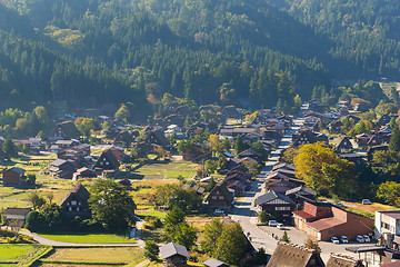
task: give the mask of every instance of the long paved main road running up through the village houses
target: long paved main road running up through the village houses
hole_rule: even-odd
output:
[[[277,239],[264,229],[257,226],[258,218],[256,215],[256,207],[253,206],[254,199],[264,192],[263,184],[266,177],[270,174],[272,166],[279,161],[279,157],[282,150],[287,149],[291,141],[292,135],[303,125],[303,112],[308,106],[303,105],[299,117],[293,120],[292,126],[287,130],[282,137],[278,148],[271,154],[268,162],[262,168],[260,175],[257,176],[257,180],[252,184],[249,191],[246,192],[244,198],[237,202],[237,207],[233,209],[231,218],[234,221],[239,221],[243,231],[249,235],[251,244],[256,249],[263,247],[268,254],[272,254],[277,247]]]

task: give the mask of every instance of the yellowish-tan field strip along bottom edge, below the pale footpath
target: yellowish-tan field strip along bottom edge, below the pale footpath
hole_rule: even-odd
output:
[[[132,264],[137,265],[144,260],[143,249],[138,247],[113,247],[113,248],[57,248],[56,251],[40,259],[43,264],[71,263],[77,264]],[[44,265],[48,266],[48,265]],[[81,266],[81,265],[79,265]],[[93,265],[91,265],[93,266]]]

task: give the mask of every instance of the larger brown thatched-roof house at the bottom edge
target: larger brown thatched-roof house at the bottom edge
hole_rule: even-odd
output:
[[[324,264],[314,249],[278,243],[267,267],[324,267]]]

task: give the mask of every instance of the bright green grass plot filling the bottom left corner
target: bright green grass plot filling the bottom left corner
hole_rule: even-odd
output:
[[[47,246],[40,245],[0,245],[0,263],[24,263],[43,253],[47,248]]]

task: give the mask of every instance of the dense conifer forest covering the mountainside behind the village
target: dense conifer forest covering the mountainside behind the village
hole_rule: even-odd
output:
[[[2,4],[1,4],[2,3]],[[394,0],[2,0],[3,107],[131,102],[166,92],[247,108],[399,75]]]

